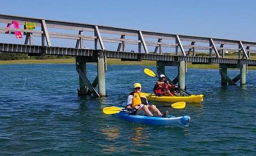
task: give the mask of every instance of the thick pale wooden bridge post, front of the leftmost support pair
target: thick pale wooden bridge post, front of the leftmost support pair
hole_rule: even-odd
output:
[[[105,62],[104,56],[100,55],[97,63],[98,69],[98,89],[100,96],[106,96],[106,84],[105,84]]]

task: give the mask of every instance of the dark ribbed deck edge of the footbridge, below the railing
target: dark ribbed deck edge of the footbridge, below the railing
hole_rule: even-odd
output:
[[[103,55],[107,58],[120,58],[128,60],[151,60],[151,61],[187,61],[192,63],[202,64],[248,64],[256,66],[256,60],[235,59],[235,58],[210,58],[210,57],[197,57],[197,56],[173,56],[163,54],[146,54],[134,52],[118,52],[108,50],[95,50],[95,49],[79,49],[67,47],[49,47],[37,45],[23,45],[0,43],[1,52],[16,52],[16,53],[30,53],[30,54],[48,54],[48,55],[68,55],[68,56],[98,56]]]

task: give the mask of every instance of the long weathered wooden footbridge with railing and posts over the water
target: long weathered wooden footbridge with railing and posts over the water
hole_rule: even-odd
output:
[[[17,28],[16,22],[18,25],[24,25],[24,28]],[[13,23],[15,28],[11,28]],[[23,35],[21,39],[13,38],[12,43],[0,43],[0,52],[27,53],[29,56],[47,54],[76,57],[80,95],[106,95],[107,58],[120,58],[122,61],[157,61],[158,74],[165,74],[165,66],[177,66],[178,74],[173,82],[178,83],[182,89],[185,88],[186,62],[219,64],[221,84],[234,84],[239,80],[240,84],[245,84],[247,66],[256,66],[256,60],[250,59],[250,54],[256,53],[256,42],[250,41],[175,35],[6,14],[0,14],[0,24],[2,40],[5,40],[5,35],[15,35],[16,32]],[[28,29],[28,24],[35,28]],[[38,38],[40,42],[36,44],[35,39]],[[54,46],[53,38],[66,39],[68,43],[73,42],[74,46]],[[23,43],[19,43],[20,41]],[[84,48],[85,41],[94,48]],[[112,49],[106,48],[105,44],[111,44]],[[128,45],[136,45],[137,52],[126,52]],[[114,46],[116,50],[113,50]],[[153,48],[152,52],[149,48]],[[163,48],[173,49],[175,54],[163,54]],[[195,49],[207,50],[209,56],[198,57],[195,55]],[[238,52],[237,58],[225,58],[225,51]],[[97,63],[98,75],[93,83],[86,77],[88,62]],[[231,79],[227,75],[228,68],[239,68],[241,72]],[[97,85],[98,92],[95,90]]]

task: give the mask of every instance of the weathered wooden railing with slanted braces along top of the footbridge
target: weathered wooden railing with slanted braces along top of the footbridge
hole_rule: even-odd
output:
[[[195,49],[209,50],[209,57],[212,58],[212,50],[214,51],[216,58],[224,58],[225,50],[237,51],[238,58],[249,59],[250,53],[255,53],[256,42],[241,41],[241,40],[229,40],[221,38],[206,38],[197,36],[175,35],[160,32],[149,32],[135,29],[123,29],[110,26],[99,26],[86,23],[73,23],[58,20],[46,20],[33,17],[20,17],[14,15],[0,14],[0,23],[8,24],[13,20],[17,20],[20,25],[24,25],[25,22],[34,22],[37,27],[41,27],[41,30],[27,30],[27,29],[15,29],[0,27],[0,33],[6,34],[6,30],[9,30],[9,34],[15,34],[15,31],[20,31],[23,35],[26,35],[24,44],[33,45],[33,38],[41,37],[41,45],[45,46],[45,40],[47,46],[52,45],[51,38],[64,38],[76,40],[75,48],[84,48],[84,40],[94,41],[94,49],[98,49],[98,43],[101,49],[106,49],[104,43],[118,43],[116,51],[125,52],[125,46],[127,44],[138,45],[138,53],[142,52],[142,46],[145,53],[149,53],[148,47],[154,47],[154,53],[159,52],[162,54],[163,47],[175,48],[175,55],[179,55],[179,49],[183,56],[192,55],[195,56]],[[56,29],[66,29],[70,32],[60,32]],[[71,33],[72,31],[78,31],[77,34]],[[94,32],[94,35],[83,35],[84,32]],[[104,34],[104,36],[102,36]],[[113,38],[111,35],[120,35],[120,38]],[[138,39],[134,39],[134,36]],[[155,40],[155,41],[152,41]],[[164,41],[163,41],[164,40]],[[189,42],[191,44],[184,44]],[[208,43],[209,46],[206,46]],[[237,46],[237,48],[231,48],[231,46]],[[122,47],[122,49],[121,49]],[[252,49],[254,48],[254,49]],[[185,51],[187,49],[187,52]],[[109,49],[106,49],[109,50]],[[241,56],[242,54],[242,56]]]

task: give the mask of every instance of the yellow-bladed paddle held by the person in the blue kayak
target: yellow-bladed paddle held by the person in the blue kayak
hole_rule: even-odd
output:
[[[186,107],[186,102],[175,102],[172,105],[166,105],[166,106],[159,106],[159,107],[172,107],[172,108],[176,108],[176,109],[182,109]],[[159,108],[157,107],[157,108]],[[135,108],[131,108],[131,109],[122,109],[119,107],[115,107],[115,106],[111,106],[111,107],[104,107],[103,108],[103,113],[105,114],[116,114],[119,113],[121,110],[135,110]]]

